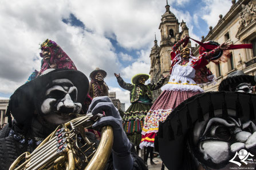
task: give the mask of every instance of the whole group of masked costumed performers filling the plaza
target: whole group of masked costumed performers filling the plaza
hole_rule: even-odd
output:
[[[74,148],[87,139],[97,148],[102,128],[111,126],[113,146],[105,169],[147,169],[149,154],[151,165],[155,165],[153,149],[163,160],[162,169],[255,168],[254,76],[234,71],[220,83],[219,92],[203,92],[199,85],[215,80],[206,65],[219,60],[230,45],[202,43],[200,55],[193,56],[186,47],[189,39],[186,36],[172,47],[170,75],[156,83],[145,84],[147,74],[137,74],[127,83],[115,73],[119,86],[130,91],[131,106],[123,118],[107,97],[107,72],[96,68],[89,82],[62,48],[47,39],[41,44],[41,70],[35,70],[10,97],[9,122],[0,131],[0,169],[9,169],[23,152],[38,152],[38,145],[60,124],[85,115],[93,123],[80,132],[82,136],[70,123],[76,131]],[[152,103],[152,91],[159,88],[163,92]],[[59,140],[59,152],[71,148],[71,139]],[[68,153],[78,155],[76,169],[86,167],[83,156],[90,153],[79,155],[74,148]],[[143,159],[138,156],[140,149],[144,149]],[[235,158],[242,149],[249,161]]]

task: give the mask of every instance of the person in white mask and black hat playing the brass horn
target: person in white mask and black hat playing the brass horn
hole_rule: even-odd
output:
[[[37,145],[49,136],[58,125],[82,116],[81,103],[84,102],[88,89],[89,81],[82,72],[63,69],[53,70],[46,74],[43,72],[41,76],[19,87],[11,95],[7,108],[7,116],[10,118],[12,115],[14,122],[9,121],[9,126],[5,126],[0,131],[0,169],[9,169],[11,163],[21,153],[34,151]],[[121,117],[111,100],[107,97],[94,98],[88,108],[88,114],[94,117],[102,111],[105,112],[105,116],[101,115],[100,117],[103,116],[103,118],[98,119],[92,127],[96,129],[101,129],[106,125],[113,127],[112,156],[109,158],[106,169],[145,169],[143,160],[131,151],[132,145],[123,131]],[[80,134],[79,131],[76,131],[76,127],[74,127],[74,132]],[[84,132],[81,131],[81,133]],[[95,143],[95,147],[99,144],[95,136],[89,132],[85,133],[85,137],[78,135],[76,138],[72,138],[69,136],[70,139],[63,137],[65,132],[57,131],[56,134],[60,139],[57,140],[60,145],[57,147],[58,149],[56,145],[46,149],[46,152],[53,151],[46,158],[57,153],[61,154],[66,147],[72,146],[72,143],[69,144],[70,140],[76,140],[75,143],[79,146],[86,141],[85,137],[87,137]],[[73,151],[69,154],[76,154],[81,159],[82,155],[77,154],[80,150],[76,150],[76,147],[69,151]],[[40,156],[40,154],[41,152],[37,152],[34,156]],[[85,152],[85,155],[88,156],[88,154],[90,153]],[[46,158],[43,160],[45,161]],[[76,160],[79,162],[76,169],[83,168],[86,160]],[[31,163],[29,166],[40,167],[44,161]],[[59,162],[61,162],[61,157],[56,160],[56,163]],[[57,165],[59,164],[55,166]],[[60,164],[60,166],[62,165]],[[34,169],[39,167],[34,167]]]

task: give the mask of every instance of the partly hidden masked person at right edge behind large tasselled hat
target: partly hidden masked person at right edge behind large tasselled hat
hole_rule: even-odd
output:
[[[254,76],[246,75],[242,70],[231,72],[219,84],[219,91],[237,91],[253,93]]]

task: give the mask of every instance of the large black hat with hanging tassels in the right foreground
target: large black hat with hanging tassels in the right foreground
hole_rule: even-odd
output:
[[[191,132],[195,122],[203,123],[219,116],[255,122],[253,103],[256,103],[255,94],[241,92],[205,92],[182,102],[159,124],[159,152],[164,165],[176,170],[187,164],[188,156],[184,151],[187,137],[191,135],[188,132]],[[230,115],[228,109],[235,110],[235,114]],[[216,115],[214,110],[222,110],[221,115]]]

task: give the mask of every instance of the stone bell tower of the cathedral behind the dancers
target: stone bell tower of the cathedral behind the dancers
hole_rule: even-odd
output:
[[[179,27],[181,27],[181,32],[179,32]],[[178,19],[170,11],[168,1],[166,12],[162,15],[159,30],[161,33],[160,46],[158,46],[155,38],[155,44],[151,48],[151,54],[149,55],[149,58],[151,59],[151,68],[149,71],[151,83],[156,83],[163,74],[169,74],[171,67],[170,52],[172,51],[172,46],[186,35],[189,35],[186,23],[183,21],[179,23]],[[189,42],[187,46],[191,47],[191,43]],[[160,94],[160,89],[153,91],[153,99],[155,100]]]

